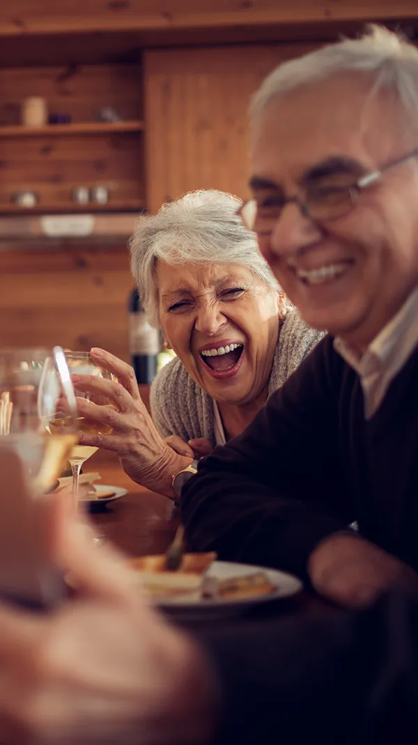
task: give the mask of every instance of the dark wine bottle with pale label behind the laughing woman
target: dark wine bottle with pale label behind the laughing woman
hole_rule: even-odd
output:
[[[136,288],[128,301],[130,360],[139,383],[152,383],[156,376],[161,343],[158,329],[149,323]]]

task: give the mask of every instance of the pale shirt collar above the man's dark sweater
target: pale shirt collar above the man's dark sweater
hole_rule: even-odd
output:
[[[390,383],[414,352],[417,343],[418,287],[361,358],[343,339],[335,338],[335,350],[360,378],[366,419],[371,419],[379,409]]]

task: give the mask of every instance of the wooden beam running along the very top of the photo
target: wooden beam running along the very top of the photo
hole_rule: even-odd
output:
[[[0,9],[0,33],[147,31],[203,26],[417,17],[416,0],[14,0]]]

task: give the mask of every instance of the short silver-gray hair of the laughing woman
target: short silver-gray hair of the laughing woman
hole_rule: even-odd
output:
[[[241,264],[270,288],[279,285],[259,252],[256,235],[237,216],[241,200],[224,191],[191,191],[139,218],[130,260],[139,297],[158,325],[157,261],[166,264]]]

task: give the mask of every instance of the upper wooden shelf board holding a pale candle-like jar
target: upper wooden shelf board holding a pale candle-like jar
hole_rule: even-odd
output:
[[[57,135],[97,135],[124,132],[142,132],[144,122],[133,121],[80,121],[74,124],[46,124],[45,127],[0,127],[0,137],[45,137]]]

